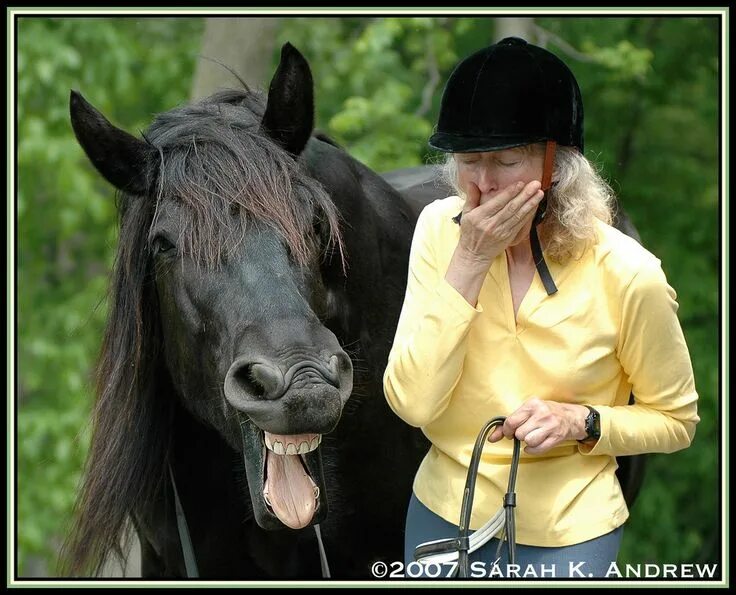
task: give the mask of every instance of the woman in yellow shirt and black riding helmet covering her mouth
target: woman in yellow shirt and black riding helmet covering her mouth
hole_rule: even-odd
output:
[[[675,292],[611,227],[612,193],[583,157],[577,82],[550,52],[507,38],[463,60],[430,145],[450,154],[458,196],[419,217],[384,375],[391,408],[432,443],[406,563],[457,536],[473,444],[505,416],[470,528],[502,503],[515,436],[518,569],[501,575],[605,576],[628,518],[615,457],[685,448],[699,421]],[[497,544],[471,556],[474,576],[498,571]]]

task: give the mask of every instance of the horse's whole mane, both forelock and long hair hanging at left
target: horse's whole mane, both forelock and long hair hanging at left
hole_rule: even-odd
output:
[[[108,552],[122,557],[129,516],[165,497],[174,402],[160,355],[150,230],[162,200],[184,208],[182,254],[217,265],[251,222],[265,223],[306,264],[324,230],[342,255],[338,214],[324,189],[260,128],[262,96],[225,91],[159,115],[143,133],[158,150],[150,196],[121,194],[111,301],[96,369],[92,443],[75,518],[62,548],[62,576],[98,574]]]

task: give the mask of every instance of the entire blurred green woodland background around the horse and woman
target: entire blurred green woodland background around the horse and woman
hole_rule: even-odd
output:
[[[207,21],[17,20],[19,577],[53,576],[69,521],[117,235],[113,190],[70,128],[69,90],[137,134],[193,94]],[[312,67],[317,127],[377,171],[437,158],[426,139],[444,81],[471,51],[522,31],[570,65],[586,155],[678,293],[701,398],[691,448],[650,457],[619,562],[720,561],[719,18],[283,16],[269,27],[251,48],[259,86],[290,41]]]

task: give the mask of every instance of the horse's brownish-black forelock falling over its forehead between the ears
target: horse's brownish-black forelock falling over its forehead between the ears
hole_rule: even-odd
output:
[[[146,138],[159,149],[158,204],[181,204],[182,253],[219,264],[243,239],[249,221],[271,226],[294,259],[313,255],[314,219],[342,257],[339,217],[329,196],[260,129],[263,103],[253,94],[223,92],[167,112]]]

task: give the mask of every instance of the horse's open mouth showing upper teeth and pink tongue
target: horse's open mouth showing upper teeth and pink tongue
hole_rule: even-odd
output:
[[[319,507],[319,487],[302,458],[317,449],[320,434],[280,435],[263,433],[266,446],[263,499],[270,511],[292,529],[311,522]]]

